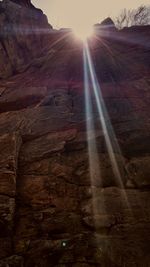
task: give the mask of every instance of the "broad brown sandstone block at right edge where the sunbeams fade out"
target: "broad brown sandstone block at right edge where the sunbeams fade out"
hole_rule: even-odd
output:
[[[148,192],[139,193],[135,189],[123,190],[115,187],[93,190],[93,199],[90,199],[83,207],[83,214],[89,215],[93,210],[93,216],[98,215],[102,218],[108,215],[113,216],[112,218],[115,216],[116,226],[117,224],[131,224],[134,228],[134,220],[137,224],[147,222],[149,216]]]

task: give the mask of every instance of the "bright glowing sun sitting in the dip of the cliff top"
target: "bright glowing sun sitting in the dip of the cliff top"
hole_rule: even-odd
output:
[[[74,27],[73,29],[74,35],[76,38],[80,39],[82,42],[85,42],[88,38],[92,37],[94,30],[92,26],[83,27]]]

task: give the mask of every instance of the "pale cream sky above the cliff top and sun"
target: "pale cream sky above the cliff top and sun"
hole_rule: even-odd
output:
[[[116,17],[123,8],[148,5],[149,0],[32,0],[47,15],[54,28],[80,28],[92,26],[106,17]]]

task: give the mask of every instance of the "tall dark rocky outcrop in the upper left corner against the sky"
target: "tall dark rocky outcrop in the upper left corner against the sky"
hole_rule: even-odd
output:
[[[0,2],[0,78],[40,55],[50,29],[46,16],[30,1]]]

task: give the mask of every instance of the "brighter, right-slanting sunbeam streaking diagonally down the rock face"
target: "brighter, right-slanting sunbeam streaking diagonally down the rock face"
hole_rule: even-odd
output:
[[[91,81],[92,81],[93,91],[94,91],[97,109],[98,109],[99,118],[100,118],[100,123],[102,126],[108,155],[109,155],[112,169],[114,172],[114,176],[116,179],[116,185],[118,185],[120,188],[124,189],[124,184],[126,181],[123,180],[122,175],[121,175],[121,171],[120,171],[120,169],[124,169],[124,162],[122,160],[122,162],[118,164],[117,158],[116,158],[116,155],[120,155],[121,158],[123,158],[122,153],[120,151],[119,144],[117,142],[115,133],[113,131],[113,128],[112,128],[112,125],[111,125],[111,122],[109,119],[109,115],[108,115],[106,107],[105,107],[105,103],[104,103],[103,96],[102,96],[101,89],[100,89],[100,85],[99,85],[99,82],[97,80],[97,76],[96,76],[96,73],[94,70],[94,65],[93,65],[93,61],[92,61],[92,58],[90,55],[90,51],[89,51],[89,47],[88,47],[87,42],[85,43],[85,56],[87,57],[90,77],[91,77]],[[124,200],[126,201],[128,207],[130,207],[125,191],[123,192],[123,195],[124,195]]]

